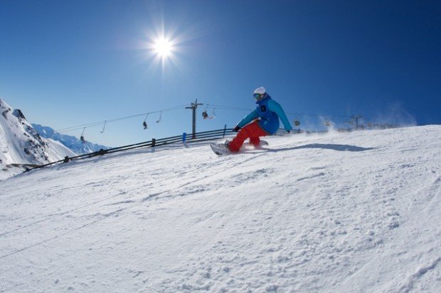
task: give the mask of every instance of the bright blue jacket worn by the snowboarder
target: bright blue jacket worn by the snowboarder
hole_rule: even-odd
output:
[[[256,109],[238,123],[240,128],[243,128],[243,126],[258,118],[259,121],[257,123],[259,124],[260,128],[262,128],[262,130],[268,134],[274,134],[276,133],[277,129],[279,129],[280,118],[283,126],[285,126],[285,130],[292,130],[291,124],[289,124],[288,118],[285,115],[282,106],[280,106],[277,101],[271,99],[269,94],[266,94],[265,98],[256,101],[256,104]]]

